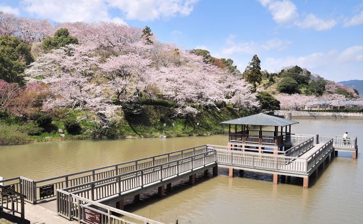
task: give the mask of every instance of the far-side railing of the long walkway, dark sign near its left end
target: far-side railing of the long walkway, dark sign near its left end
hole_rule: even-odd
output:
[[[62,176],[46,178],[38,181],[30,180],[25,177],[15,177],[2,180],[0,181],[0,183],[4,183],[4,185],[14,185],[14,189],[16,192],[24,194],[26,196],[27,202],[36,204],[37,201],[40,200],[53,199],[56,195],[56,189],[79,186],[84,183],[89,183],[91,181],[130,173],[132,171],[189,157],[191,155],[205,152],[205,150],[206,145],[200,145],[170,153],[164,153],[156,156],[113,164],[81,172],[70,173]]]

